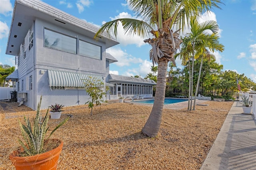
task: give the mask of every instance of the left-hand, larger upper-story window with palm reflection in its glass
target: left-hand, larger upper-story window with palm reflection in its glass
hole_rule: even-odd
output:
[[[77,54],[76,38],[44,29],[44,47]]]

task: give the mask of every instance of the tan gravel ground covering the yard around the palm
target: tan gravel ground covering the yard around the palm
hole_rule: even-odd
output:
[[[196,170],[200,169],[233,102],[207,101],[196,111],[164,109],[156,138],[141,133],[152,107],[108,103],[65,107],[50,131],[67,115],[72,118],[52,138],[63,140],[58,170]],[[45,113],[45,111],[42,111]],[[35,111],[0,102],[0,170],[14,170],[9,154],[21,137],[18,119]],[[7,119],[8,118],[8,119]],[[22,120],[23,121],[23,120]]]

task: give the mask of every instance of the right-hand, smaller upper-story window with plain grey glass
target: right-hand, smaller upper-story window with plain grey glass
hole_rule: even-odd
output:
[[[83,55],[90,58],[101,58],[101,47],[92,43],[79,40],[79,55]]]

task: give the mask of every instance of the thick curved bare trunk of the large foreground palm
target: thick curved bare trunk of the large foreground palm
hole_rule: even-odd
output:
[[[165,59],[164,57],[159,59],[154,105],[149,115],[148,121],[142,128],[142,133],[146,134],[149,137],[155,137],[160,129],[162,121],[162,111],[164,108],[167,66],[167,59]]]

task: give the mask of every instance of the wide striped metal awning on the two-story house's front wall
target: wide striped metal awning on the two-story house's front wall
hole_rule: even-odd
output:
[[[86,80],[92,81],[96,86],[104,84],[103,79],[100,75],[48,70],[48,81],[50,86],[85,87]]]

